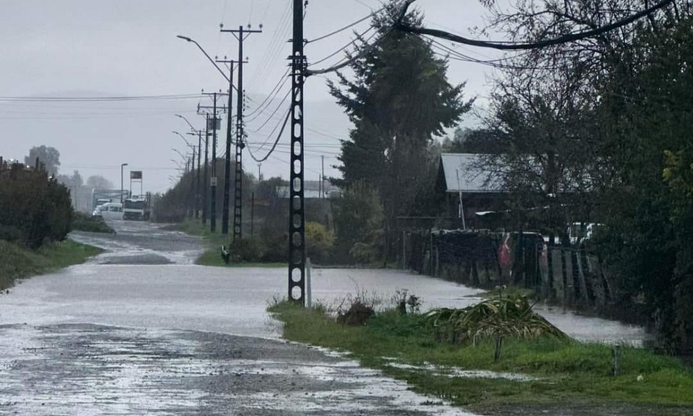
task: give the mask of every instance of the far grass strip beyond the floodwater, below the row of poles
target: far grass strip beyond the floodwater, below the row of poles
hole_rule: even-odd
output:
[[[231,261],[225,263],[221,257],[220,247],[229,244],[231,237],[225,236],[219,231],[211,232],[209,231],[209,226],[204,226],[198,221],[188,220],[182,223],[166,225],[165,229],[202,237],[206,249],[202,255],[195,260],[195,264],[218,267],[286,267],[286,263],[250,263],[247,261],[240,263]]]

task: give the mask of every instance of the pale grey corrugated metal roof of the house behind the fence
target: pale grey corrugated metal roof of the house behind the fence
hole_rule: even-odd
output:
[[[479,168],[483,155],[472,153],[442,153],[441,169],[443,171],[446,192],[484,193],[498,192],[500,187],[486,184],[489,172]],[[457,181],[459,173],[459,182]]]

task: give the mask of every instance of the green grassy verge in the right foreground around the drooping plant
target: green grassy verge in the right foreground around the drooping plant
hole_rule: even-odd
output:
[[[647,415],[693,414],[693,372],[674,358],[646,349],[621,347],[619,375],[613,376],[608,345],[552,338],[504,340],[500,359],[494,361],[493,343],[437,342],[421,315],[383,311],[363,326],[346,327],[324,309],[279,302],[268,311],[285,322],[285,338],[350,352],[362,365],[405,380],[418,392],[483,413],[558,403],[581,408],[645,406],[648,410],[642,414]],[[458,369],[528,378],[452,376]]]

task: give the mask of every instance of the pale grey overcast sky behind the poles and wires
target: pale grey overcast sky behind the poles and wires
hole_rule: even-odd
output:
[[[244,87],[252,99],[245,114],[272,92],[286,71],[290,55],[290,0],[0,0],[0,155],[23,159],[33,146],[53,146],[61,157],[60,173],[79,170],[83,177],[103,175],[116,187],[120,165],[143,171],[144,189],[165,191],[178,175],[184,141],[172,130],[185,133],[184,115],[203,128],[197,106],[210,99],[170,99],[160,96],[226,91],[221,74],[193,45],[176,35],[193,38],[212,56],[238,59],[238,42],[225,28],[239,25],[259,28],[244,44],[249,62],[244,67]],[[469,35],[468,28],[482,26],[484,10],[477,1],[418,0],[425,25]],[[310,0],[304,33],[308,40],[335,31],[380,8],[379,0]],[[368,21],[355,26],[368,28]],[[351,30],[309,43],[308,62],[316,62],[342,48],[353,38]],[[452,46],[449,42],[444,42]],[[475,58],[493,58],[488,50],[455,46]],[[315,68],[329,66],[333,58]],[[489,94],[489,69],[480,64],[450,61],[453,83],[467,82],[466,97]],[[349,122],[333,103],[324,77],[306,81],[306,179],[317,180],[324,156],[325,173],[336,175],[340,138],[347,137]],[[272,130],[286,114],[281,98],[290,82],[279,90],[274,105],[247,116],[249,148],[265,155],[274,140]],[[17,102],[8,97],[159,96],[117,102]],[[220,100],[220,103],[225,99]],[[235,107],[234,97],[234,107]],[[274,109],[279,110],[272,115]],[[234,110],[235,112],[235,110]],[[224,116],[225,117],[225,116]],[[467,121],[469,122],[469,121]],[[224,123],[225,124],[225,123]],[[220,137],[224,137],[224,131]],[[192,137],[191,137],[192,139]],[[224,153],[223,139],[218,156]],[[197,139],[191,141],[197,143]],[[288,136],[261,166],[263,176],[288,177]],[[176,162],[171,162],[175,159]],[[258,164],[247,151],[244,168],[257,175]],[[128,177],[128,168],[125,177]],[[219,173],[222,175],[222,173]],[[127,182],[127,179],[126,179]],[[127,184],[126,184],[127,187]]]

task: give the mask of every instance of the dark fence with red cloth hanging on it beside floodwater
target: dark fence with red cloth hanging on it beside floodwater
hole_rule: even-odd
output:
[[[551,245],[532,232],[441,230],[412,233],[407,264],[422,274],[468,286],[513,285],[564,306],[608,312],[618,282],[585,248]]]

